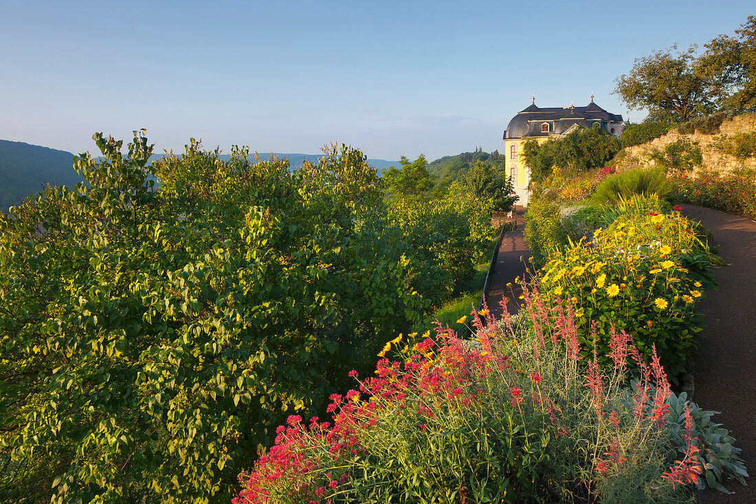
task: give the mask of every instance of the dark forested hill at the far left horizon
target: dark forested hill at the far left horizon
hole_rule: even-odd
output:
[[[82,177],[73,170],[73,154],[39,145],[0,140],[0,212],[50,185],[73,187]]]

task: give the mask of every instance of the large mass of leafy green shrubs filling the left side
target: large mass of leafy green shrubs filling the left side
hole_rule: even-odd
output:
[[[417,256],[370,226],[380,181],[343,145],[292,172],[95,142],[88,187],[0,216],[0,499],[224,502],[275,425],[417,322]]]

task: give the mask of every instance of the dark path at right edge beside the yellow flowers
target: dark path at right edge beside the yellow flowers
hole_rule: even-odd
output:
[[[711,231],[717,254],[729,265],[714,269],[719,287],[701,303],[706,338],[696,359],[693,400],[722,412],[714,421],[736,438],[749,474],[756,474],[756,222],[708,208],[682,205],[683,215]],[[748,478],[754,480],[754,478]],[[756,482],[734,493],[705,490],[696,502],[756,502]]]

